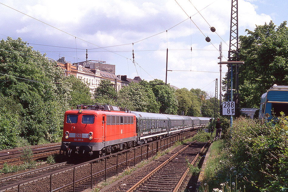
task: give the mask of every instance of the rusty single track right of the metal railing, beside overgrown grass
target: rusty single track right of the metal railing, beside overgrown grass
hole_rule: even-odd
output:
[[[207,143],[195,142],[187,145],[167,160],[149,167],[148,170],[137,175],[131,182],[121,185],[118,191],[176,192],[189,172],[187,162],[193,165],[206,145]]]

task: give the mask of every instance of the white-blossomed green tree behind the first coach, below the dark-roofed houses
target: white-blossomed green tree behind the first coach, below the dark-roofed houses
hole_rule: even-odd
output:
[[[142,80],[130,83],[119,91],[119,96],[126,98],[122,106],[131,111],[159,113],[160,102],[156,101],[150,84]]]

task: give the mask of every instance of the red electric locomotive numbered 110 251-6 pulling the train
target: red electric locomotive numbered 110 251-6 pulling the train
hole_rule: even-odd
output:
[[[96,156],[131,148],[136,144],[136,118],[120,107],[83,104],[65,112],[61,150]]]

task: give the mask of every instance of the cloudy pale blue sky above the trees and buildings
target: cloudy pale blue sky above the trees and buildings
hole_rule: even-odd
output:
[[[65,57],[72,63],[86,60],[88,49],[88,60],[114,64],[116,75],[132,79],[140,76],[147,81],[165,81],[168,48],[168,70],[172,71],[168,71],[167,83],[199,88],[214,96],[215,79],[218,78],[218,85],[220,81],[217,58],[221,42],[222,61],[228,57],[231,0],[0,3],[1,39],[21,37],[47,57]],[[239,35],[270,20],[279,26],[287,20],[287,4],[287,0],[238,0]],[[216,28],[218,35],[210,31],[209,25]],[[205,41],[206,36],[211,43]]]

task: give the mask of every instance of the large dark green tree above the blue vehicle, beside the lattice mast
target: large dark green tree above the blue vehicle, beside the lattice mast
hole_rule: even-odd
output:
[[[242,108],[259,108],[260,96],[273,84],[288,85],[288,29],[284,21],[246,29],[240,36],[239,92]]]

